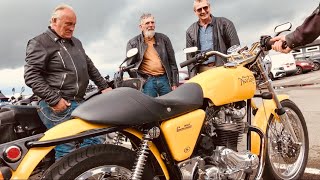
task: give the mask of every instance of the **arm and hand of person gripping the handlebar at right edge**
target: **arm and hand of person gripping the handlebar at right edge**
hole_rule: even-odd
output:
[[[313,42],[320,36],[320,4],[305,21],[292,33],[280,35],[271,39],[274,41],[272,49],[282,53],[289,53],[293,48]],[[282,43],[287,42],[287,48],[282,49]]]

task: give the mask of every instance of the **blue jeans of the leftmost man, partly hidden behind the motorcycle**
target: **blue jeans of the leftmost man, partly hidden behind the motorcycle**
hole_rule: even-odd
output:
[[[79,106],[80,102],[70,101],[71,105],[62,112],[54,112],[51,107],[44,101],[41,100],[39,102],[39,110],[38,114],[43,124],[48,128],[52,128],[62,122],[65,122],[71,118],[72,111]],[[75,127],[76,128],[76,127]],[[93,137],[84,139],[83,143],[81,143],[80,147],[89,146],[92,144],[102,144],[103,139],[100,137]],[[61,144],[56,146],[56,159],[61,158],[62,156],[68,154],[69,152],[76,149],[76,142],[70,142],[66,144]]]

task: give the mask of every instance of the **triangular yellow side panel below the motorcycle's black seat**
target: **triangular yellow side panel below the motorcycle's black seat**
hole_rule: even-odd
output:
[[[161,124],[161,131],[176,161],[191,156],[205,118],[203,110],[196,110]]]

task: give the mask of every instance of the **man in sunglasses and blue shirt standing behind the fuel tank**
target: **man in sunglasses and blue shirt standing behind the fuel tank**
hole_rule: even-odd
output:
[[[201,51],[215,50],[226,54],[231,46],[240,45],[233,23],[224,17],[214,17],[211,14],[209,0],[194,0],[193,10],[199,20],[186,32],[187,48],[196,46]],[[187,54],[187,59],[194,55],[194,53]],[[197,67],[191,64],[188,66],[189,76],[193,77],[210,68],[222,66],[224,63],[225,59],[213,56]]]

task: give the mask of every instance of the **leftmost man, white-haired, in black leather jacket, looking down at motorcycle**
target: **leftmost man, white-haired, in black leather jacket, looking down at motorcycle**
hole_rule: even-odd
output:
[[[73,37],[76,22],[73,8],[59,5],[48,29],[27,44],[25,83],[41,98],[38,113],[48,129],[70,119],[71,112],[83,102],[89,79],[104,92],[111,90],[80,40]],[[97,143],[100,138],[90,138],[83,145]],[[56,159],[74,148],[74,143],[57,146]]]

